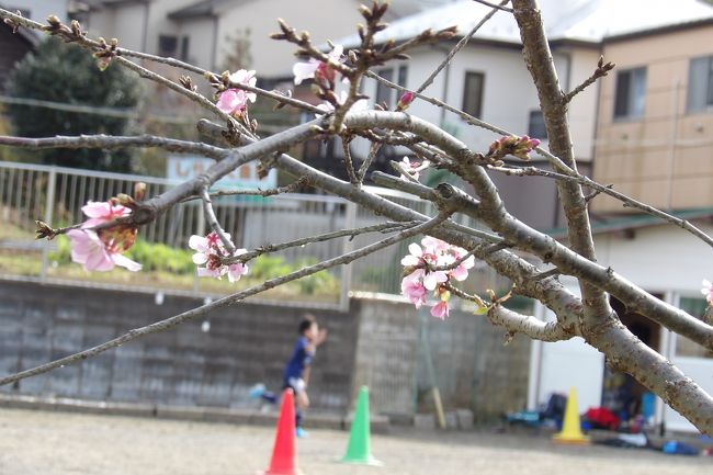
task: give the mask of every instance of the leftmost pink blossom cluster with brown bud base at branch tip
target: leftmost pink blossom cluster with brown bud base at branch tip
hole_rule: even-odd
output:
[[[122,252],[134,245],[136,228],[131,225],[116,224],[110,228],[93,230],[91,228],[112,222],[132,213],[126,206],[107,202],[88,202],[81,208],[89,219],[78,229],[67,231],[70,240],[71,260],[84,267],[87,271],[111,271],[120,265],[129,271],[138,271],[142,265]]]

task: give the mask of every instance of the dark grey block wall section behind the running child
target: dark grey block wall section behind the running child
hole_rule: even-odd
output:
[[[61,358],[132,328],[200,305],[167,296],[73,287],[0,284],[0,371],[3,374]],[[358,319],[313,312],[329,328],[312,374],[313,404],[341,410],[349,404]],[[215,312],[211,330],[201,321],[151,335],[82,364],[0,391],[176,405],[241,407],[257,382],[280,389],[303,310],[240,304]]]

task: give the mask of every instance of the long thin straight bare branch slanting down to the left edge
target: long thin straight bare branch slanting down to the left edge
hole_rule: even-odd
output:
[[[304,269],[301,269],[298,271],[291,272],[288,274],[275,278],[275,279],[270,279],[259,285],[254,285],[250,289],[246,289],[245,291],[237,292],[233,295],[229,295],[227,297],[219,298],[215,302],[212,302],[210,304],[203,305],[201,307],[191,309],[189,312],[184,312],[182,314],[176,315],[170,318],[166,318],[160,321],[156,321],[151,325],[147,325],[145,327],[136,328],[133,330],[129,330],[128,332],[114,338],[110,341],[106,341],[102,344],[99,344],[93,348],[89,348],[87,350],[70,354],[65,358],[60,358],[58,360],[55,360],[53,362],[42,364],[39,366],[21,371],[8,376],[4,376],[0,378],[0,386],[7,385],[7,384],[12,384],[16,381],[24,380],[30,376],[36,376],[38,374],[47,373],[52,370],[56,370],[57,367],[63,367],[68,364],[76,363],[78,361],[83,361],[90,357],[94,357],[99,353],[102,353],[106,350],[111,350],[112,348],[117,348],[124,343],[127,343],[129,341],[136,340],[137,338],[145,337],[147,335],[156,333],[158,331],[165,331],[170,328],[173,328],[178,325],[184,324],[186,321],[190,321],[194,318],[204,316],[208,314],[210,312],[213,312],[217,308],[223,308],[228,305],[236,304],[238,302],[241,302],[246,299],[247,297],[251,295],[259,294],[261,292],[268,291],[270,289],[276,287],[279,285],[283,285],[287,282],[295,281],[297,279],[305,278],[307,275],[312,275],[314,273],[317,273],[319,271],[324,271],[326,269],[332,268],[335,265],[341,265],[341,264],[347,264],[350,263],[356,259],[363,258],[364,256],[369,256],[370,253],[376,252],[381,249],[384,249],[388,246],[392,246],[396,242],[399,242],[404,239],[408,239],[412,236],[417,236],[419,234],[425,234],[428,233],[430,229],[433,227],[440,225],[443,220],[448,218],[449,214],[448,213],[440,213],[438,216],[419,224],[418,226],[414,226],[411,228],[405,229],[400,231],[398,235],[391,236],[386,239],[383,239],[378,242],[374,242],[372,245],[365,246],[361,249],[358,249],[352,252],[348,252],[346,255],[339,256],[337,258],[328,259],[326,261],[319,262],[315,265],[309,265]]]

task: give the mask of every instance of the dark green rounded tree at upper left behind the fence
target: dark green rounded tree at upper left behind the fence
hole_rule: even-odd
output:
[[[26,98],[102,109],[134,109],[140,95],[135,76],[123,68],[101,71],[97,60],[56,38],[43,42],[14,69],[8,93]],[[129,120],[113,114],[87,114],[44,106],[9,104],[5,109],[14,132],[24,137],[54,135],[124,135]],[[126,149],[46,149],[38,154],[47,165],[125,172],[132,169]]]

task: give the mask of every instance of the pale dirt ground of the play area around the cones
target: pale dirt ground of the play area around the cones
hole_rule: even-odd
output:
[[[0,475],[253,475],[267,468],[273,437],[262,427],[0,409]],[[350,466],[336,462],[347,440],[347,432],[309,431],[297,441],[299,468],[305,475],[713,473],[713,457],[404,430],[372,438],[383,467]]]

